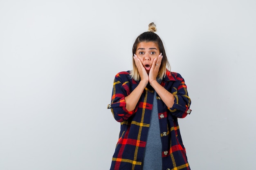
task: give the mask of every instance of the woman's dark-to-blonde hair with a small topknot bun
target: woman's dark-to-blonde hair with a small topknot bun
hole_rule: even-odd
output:
[[[134,55],[136,53],[137,46],[140,42],[155,42],[159,48],[160,53],[162,53],[162,55],[163,55],[162,63],[160,65],[157,76],[160,79],[163,79],[163,77],[166,75],[166,70],[168,69],[171,71],[171,66],[167,60],[167,56],[166,56],[165,49],[164,49],[164,44],[163,44],[161,38],[159,38],[159,36],[155,33],[156,30],[157,30],[156,25],[153,22],[148,24],[148,31],[142,33],[141,35],[139,35],[136,38],[136,40],[132,46],[132,55]],[[135,81],[139,81],[140,80],[139,71],[138,71],[138,68],[137,68],[134,60],[132,60],[132,67],[133,67],[133,69],[130,72],[130,76],[133,79],[135,79]]]

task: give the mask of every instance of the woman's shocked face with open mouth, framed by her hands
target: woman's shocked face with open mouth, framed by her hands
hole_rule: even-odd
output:
[[[158,57],[160,51],[155,42],[140,42],[135,54],[141,60],[147,73],[149,73],[153,60]]]

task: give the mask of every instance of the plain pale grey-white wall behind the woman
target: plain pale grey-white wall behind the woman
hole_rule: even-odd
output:
[[[255,0],[0,0],[0,170],[108,170],[115,74],[155,22],[192,170],[254,170]]]

